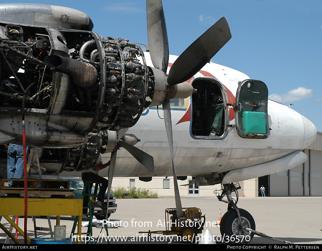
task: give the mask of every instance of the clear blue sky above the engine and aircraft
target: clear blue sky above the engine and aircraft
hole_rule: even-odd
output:
[[[147,43],[144,0],[19,2],[75,8],[90,16],[99,35]],[[226,17],[232,39],[212,61],[262,80],[270,99],[294,104],[322,131],[322,1],[164,0],[163,8],[170,54],[180,55]]]

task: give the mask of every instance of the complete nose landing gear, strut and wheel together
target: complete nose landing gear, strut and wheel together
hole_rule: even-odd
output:
[[[245,228],[255,230],[255,221],[249,212],[244,209],[239,209],[236,205],[238,202],[237,190],[241,187],[239,184],[235,186],[233,183],[224,184],[223,187],[222,194],[218,195],[217,198],[219,201],[228,203],[228,211],[221,219],[220,233],[224,240],[231,243],[248,243],[254,237],[254,233]],[[235,192],[237,195],[236,202],[232,199],[232,192]],[[227,200],[223,200],[225,196],[227,196]]]

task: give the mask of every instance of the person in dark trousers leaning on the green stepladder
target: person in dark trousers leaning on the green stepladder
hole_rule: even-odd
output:
[[[90,168],[88,170],[83,170],[83,172],[81,174],[81,179],[82,179],[82,181],[84,183],[90,181],[90,182],[95,182],[95,183],[100,183],[101,184],[100,192],[102,192],[102,196],[103,196],[102,199],[104,199],[104,195],[105,195],[105,192],[107,190],[109,181],[107,179],[99,176],[98,173],[99,173],[99,170],[104,169],[104,168],[106,168],[108,166],[109,166],[109,161],[107,163],[103,164],[102,156],[99,153],[99,158],[97,160],[97,163],[94,165],[94,167],[92,167],[92,168]],[[92,186],[93,186],[93,183],[90,183],[90,190],[91,190]],[[99,192],[98,198],[101,198],[101,196],[100,196],[101,193],[100,192]],[[88,198],[89,198],[89,196],[87,195],[87,191],[86,191],[85,194],[86,195],[84,196],[83,207],[88,206]],[[99,205],[100,208],[103,208],[101,201],[97,201],[97,205]],[[86,214],[86,213],[87,213],[87,209],[83,209],[83,214]]]

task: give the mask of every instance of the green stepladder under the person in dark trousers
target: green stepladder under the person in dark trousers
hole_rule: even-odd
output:
[[[86,236],[89,236],[90,237],[90,244],[93,244],[93,241],[92,241],[92,238],[91,237],[93,236],[92,220],[93,220],[93,211],[94,211],[94,207],[95,206],[94,207],[91,206],[90,194],[91,194],[91,187],[92,186],[90,184],[92,184],[92,183],[90,183],[90,182],[84,182],[84,188],[83,188],[83,192],[81,194],[81,199],[84,200],[85,195],[88,195],[88,207],[84,207],[84,208],[88,208],[89,211],[90,211],[90,215],[89,215],[90,216],[90,221],[89,221],[89,224],[88,224],[88,229],[87,229]],[[96,183],[95,184],[95,189],[94,189],[93,196],[94,196],[94,199],[96,201],[98,186],[99,186],[99,192],[100,192],[100,195],[101,195],[101,201],[102,201],[102,205],[103,205],[104,219],[106,220],[106,211],[105,211],[105,206],[104,206],[104,195],[102,195],[102,192],[100,190],[101,185],[99,183]],[[109,205],[107,205],[107,207],[109,207]],[[73,228],[71,230],[71,236],[70,236],[70,238],[72,238],[72,236],[75,233],[75,229],[76,229],[77,222],[78,222],[78,216],[75,217],[74,225],[73,225]],[[107,224],[103,224],[103,225],[105,226],[105,230],[106,230],[107,236],[109,236],[109,231],[107,230]],[[108,239],[108,243],[109,243],[109,239]],[[85,240],[85,244],[86,244],[86,240]]]

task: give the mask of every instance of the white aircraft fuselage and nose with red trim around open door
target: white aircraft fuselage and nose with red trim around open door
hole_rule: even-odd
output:
[[[145,56],[147,64],[151,65],[148,53]],[[175,59],[175,56],[170,55],[169,66]],[[226,103],[235,102],[232,95],[236,97],[238,82],[249,79],[237,70],[215,63],[207,63],[194,77],[215,77],[219,80],[226,89]],[[190,106],[191,98],[187,98],[184,107],[171,108],[177,176],[228,172],[266,163],[306,148],[316,137],[316,128],[308,119],[271,100],[268,100],[268,122],[271,130],[266,139],[242,138],[235,127],[227,127],[226,133],[221,137],[196,137],[191,132]],[[225,111],[227,124],[235,125],[233,109],[226,108]],[[164,120],[158,114],[163,117],[162,107],[159,110],[156,107],[148,108],[137,124],[127,132],[141,140],[136,147],[153,156],[155,172],[148,171],[121,148],[118,151],[115,177],[173,175],[166,128]],[[179,121],[181,122],[178,123]],[[109,154],[103,154],[102,157],[103,162],[104,157],[107,161]],[[107,176],[107,172],[108,170],[102,170],[100,174]]]

